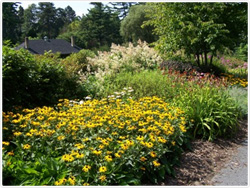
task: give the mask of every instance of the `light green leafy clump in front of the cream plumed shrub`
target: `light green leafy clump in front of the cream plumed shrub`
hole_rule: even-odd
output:
[[[92,85],[96,86],[97,97],[100,98],[107,97],[123,88],[132,87],[134,89],[133,97],[138,99],[145,96],[163,97],[166,93],[171,95],[172,89],[166,85],[167,79],[159,70],[145,70],[139,73],[122,72],[115,76],[106,76],[104,82],[100,83],[99,80],[96,80]]]

